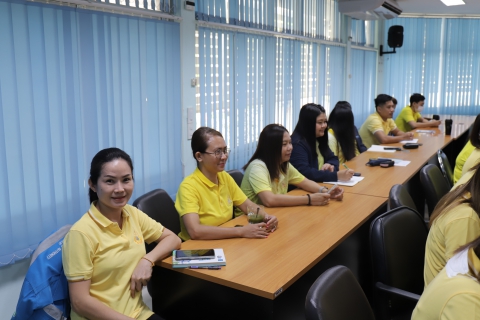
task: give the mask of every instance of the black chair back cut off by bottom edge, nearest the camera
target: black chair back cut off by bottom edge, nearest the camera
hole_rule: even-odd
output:
[[[305,301],[307,320],[374,320],[353,273],[344,266],[328,269],[313,283]]]

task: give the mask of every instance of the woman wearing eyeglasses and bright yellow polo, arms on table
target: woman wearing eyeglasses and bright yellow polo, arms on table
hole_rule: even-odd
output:
[[[180,215],[180,238],[267,238],[275,231],[277,218],[265,212],[263,223],[242,228],[218,227],[232,219],[233,206],[246,213],[247,206],[255,204],[224,171],[229,150],[220,132],[198,128],[192,135],[191,146],[197,168],[182,181],[175,201]]]

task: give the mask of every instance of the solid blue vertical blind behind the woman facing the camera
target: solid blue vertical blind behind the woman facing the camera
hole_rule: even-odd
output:
[[[88,209],[92,157],[133,159],[132,200],[182,178],[177,23],[0,1],[0,266]]]

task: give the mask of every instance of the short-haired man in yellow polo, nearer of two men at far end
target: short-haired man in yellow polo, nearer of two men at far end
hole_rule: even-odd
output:
[[[405,133],[395,125],[392,119],[395,104],[391,96],[379,94],[375,99],[375,109],[377,111],[368,116],[359,131],[367,148],[374,144],[396,143],[413,138],[412,133]]]

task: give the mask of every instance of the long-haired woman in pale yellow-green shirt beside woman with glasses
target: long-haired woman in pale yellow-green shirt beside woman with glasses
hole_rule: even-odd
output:
[[[330,198],[341,200],[343,189],[327,194],[326,187],[305,178],[290,164],[292,139],[287,129],[269,124],[260,133],[257,150],[243,167],[242,191],[255,203],[267,207],[286,207],[328,204]],[[305,196],[286,195],[288,185],[297,186],[308,193]]]

